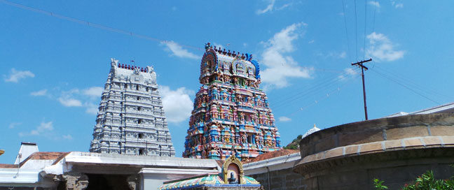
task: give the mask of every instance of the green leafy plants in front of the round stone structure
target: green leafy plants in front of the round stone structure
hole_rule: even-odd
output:
[[[375,185],[376,189],[387,189],[386,186],[383,185],[383,181],[378,179],[373,179],[373,184]],[[427,190],[427,189],[436,189],[436,190],[448,190],[454,189],[454,176],[450,177],[447,180],[436,180],[434,177],[434,173],[429,170],[426,173],[422,174],[418,178],[416,178],[414,184],[405,184],[401,190]]]

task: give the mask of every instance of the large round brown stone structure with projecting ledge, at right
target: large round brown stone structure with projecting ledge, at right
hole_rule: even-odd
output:
[[[454,114],[407,115],[333,126],[300,142],[294,171],[306,189],[389,189],[432,170],[437,179],[454,174]]]

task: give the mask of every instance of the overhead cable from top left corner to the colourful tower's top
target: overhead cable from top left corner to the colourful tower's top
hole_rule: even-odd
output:
[[[39,8],[33,8],[33,7],[30,7],[30,6],[24,6],[24,5],[21,5],[21,4],[18,4],[18,3],[13,3],[11,1],[6,1],[6,0],[0,0],[0,3],[4,3],[6,5],[10,5],[10,6],[15,6],[17,8],[21,8],[21,9],[24,9],[24,10],[31,10],[35,13],[40,13],[40,14],[43,14],[43,15],[48,15],[48,16],[51,16],[51,17],[57,17],[59,19],[62,19],[62,20],[67,20],[67,21],[70,21],[70,22],[75,22],[75,23],[78,23],[78,24],[83,24],[83,25],[87,25],[88,27],[95,27],[95,28],[98,28],[98,29],[103,29],[103,30],[106,30],[106,31],[113,31],[113,32],[116,32],[118,34],[125,34],[125,35],[128,35],[128,36],[135,36],[137,38],[143,38],[143,39],[146,39],[146,40],[149,40],[149,41],[155,41],[155,42],[158,42],[158,43],[172,43],[173,41],[167,41],[167,40],[162,40],[162,39],[158,39],[158,38],[153,38],[151,36],[146,36],[146,35],[142,35],[142,34],[136,34],[132,31],[126,31],[126,30],[123,30],[123,29],[117,29],[117,28],[114,28],[114,27],[108,27],[106,25],[103,25],[103,24],[97,24],[97,23],[93,23],[93,22],[88,22],[88,21],[85,21],[85,20],[80,20],[80,19],[77,19],[77,18],[74,18],[74,17],[67,17],[65,15],[60,15],[60,14],[57,14],[57,13],[53,13],[53,12],[50,12],[50,11],[47,11],[47,10],[42,10],[42,9],[39,9]],[[192,46],[192,45],[183,45],[183,44],[179,44],[181,45],[181,47],[187,47],[187,48],[191,48],[193,50],[202,50],[200,47],[195,47],[195,46]]]

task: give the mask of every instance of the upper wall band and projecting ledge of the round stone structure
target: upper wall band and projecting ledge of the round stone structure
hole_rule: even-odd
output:
[[[333,126],[312,133],[300,142],[301,157],[304,158],[320,152],[325,152],[328,156],[335,156],[338,153],[326,151],[350,145],[363,145],[363,147],[345,149],[348,153],[355,152],[355,149],[359,148],[365,149],[359,152],[371,152],[380,149],[380,143],[387,140],[406,139],[401,142],[385,143],[383,149],[399,147],[393,143],[400,143],[401,147],[418,147],[422,144],[424,144],[422,147],[425,147],[425,145],[441,145],[443,143],[437,143],[438,141],[434,138],[427,138],[427,142],[418,142],[418,139],[414,138],[446,136],[443,137],[443,140],[446,138],[446,140],[452,141],[454,139],[448,137],[450,134],[454,134],[454,114],[406,115],[373,119]],[[452,143],[449,142],[446,145],[452,145]],[[317,157],[324,158],[324,156]]]

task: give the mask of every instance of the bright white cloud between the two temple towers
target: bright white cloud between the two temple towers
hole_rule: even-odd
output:
[[[194,92],[186,90],[184,87],[171,90],[167,86],[160,86],[160,95],[163,97],[167,122],[179,123],[191,116],[193,101],[191,101],[189,94],[194,94]]]

